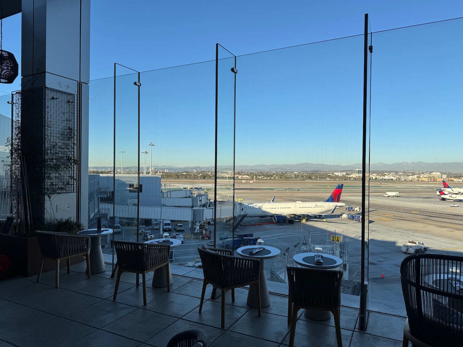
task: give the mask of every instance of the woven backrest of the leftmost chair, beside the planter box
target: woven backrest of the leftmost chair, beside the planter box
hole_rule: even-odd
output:
[[[45,257],[63,258],[88,251],[88,236],[41,230],[37,230],[35,235],[40,247],[40,253]]]

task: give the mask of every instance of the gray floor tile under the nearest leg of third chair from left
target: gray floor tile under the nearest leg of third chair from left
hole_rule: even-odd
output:
[[[249,310],[242,307],[225,304],[225,329],[230,328],[238,319],[244,316],[247,311]],[[220,312],[220,303],[205,301],[201,313],[199,313],[199,309],[193,310],[188,313],[188,315],[184,316],[183,319],[221,328]]]

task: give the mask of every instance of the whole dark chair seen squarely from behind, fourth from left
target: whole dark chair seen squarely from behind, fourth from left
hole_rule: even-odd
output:
[[[288,324],[291,324],[289,346],[294,346],[297,313],[300,309],[331,311],[334,316],[338,347],[341,339],[342,270],[286,266],[288,272]]]

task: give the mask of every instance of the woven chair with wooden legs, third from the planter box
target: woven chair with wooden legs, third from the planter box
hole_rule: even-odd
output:
[[[214,248],[210,248],[214,250]],[[232,290],[232,302],[235,302],[235,288],[245,285],[254,285],[257,293],[257,312],[261,316],[260,301],[260,260],[243,257],[235,257],[214,253],[198,248],[203,267],[203,289],[201,292],[200,313],[208,284],[222,291],[221,327],[225,327],[225,291]]]

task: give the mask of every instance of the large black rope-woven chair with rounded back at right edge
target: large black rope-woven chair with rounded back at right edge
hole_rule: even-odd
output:
[[[412,254],[402,260],[400,280],[407,321],[402,346],[462,346],[463,257]]]

